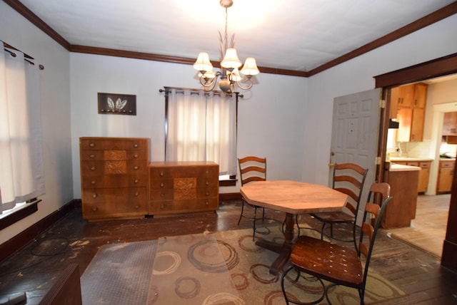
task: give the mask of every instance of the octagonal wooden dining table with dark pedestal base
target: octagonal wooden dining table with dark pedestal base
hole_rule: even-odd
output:
[[[264,239],[256,241],[258,246],[279,254],[269,270],[275,275],[283,269],[291,254],[294,215],[341,211],[348,199],[346,194],[325,185],[290,180],[251,182],[240,187],[240,192],[251,205],[286,213],[283,244]]]

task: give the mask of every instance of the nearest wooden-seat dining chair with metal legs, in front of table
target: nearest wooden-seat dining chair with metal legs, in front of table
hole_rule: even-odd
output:
[[[286,304],[318,304],[324,297],[328,304],[331,304],[328,291],[337,285],[357,289],[361,304],[364,304],[363,297],[368,267],[383,212],[392,199],[390,190],[390,185],[385,182],[371,185],[368,202],[363,213],[358,250],[348,249],[323,239],[304,235],[296,239],[290,256],[291,267],[283,273],[281,279],[281,288]],[[377,203],[373,203],[376,194],[377,198],[381,199],[377,199]],[[292,270],[295,270],[296,274],[293,274]],[[291,273],[290,276],[289,273]],[[303,281],[316,280],[321,284],[323,293],[322,295],[319,294],[318,299],[309,301],[309,298],[312,299],[313,296],[309,296],[309,289],[305,289],[307,285],[303,284]],[[323,280],[330,281],[331,284],[326,285]],[[299,284],[298,281],[302,284]],[[289,291],[286,291],[286,286]],[[303,289],[296,289],[296,287]],[[306,302],[302,301],[305,299],[303,298],[305,295],[308,296]]]

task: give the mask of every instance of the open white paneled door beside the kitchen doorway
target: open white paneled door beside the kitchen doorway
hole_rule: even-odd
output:
[[[329,175],[333,164],[351,162],[368,168],[358,219],[365,210],[368,190],[376,174],[379,100],[381,89],[353,93],[333,100],[333,123]]]

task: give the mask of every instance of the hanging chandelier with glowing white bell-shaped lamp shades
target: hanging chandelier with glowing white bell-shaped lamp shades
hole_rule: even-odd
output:
[[[236,87],[242,90],[249,90],[252,85],[252,76],[260,73],[256,65],[256,58],[248,57],[244,62],[243,68],[241,61],[236,54],[235,42],[231,36],[230,43],[227,39],[227,9],[232,6],[233,0],[220,0],[224,9],[226,9],[226,28],[224,37],[219,31],[219,45],[221,46],[221,71],[213,72],[213,65],[209,61],[209,54],[200,52],[199,57],[194,63],[194,68],[199,71],[199,78],[201,85],[204,86],[205,91],[212,91],[219,84],[219,88],[224,92],[234,92]],[[241,71],[241,73],[240,73]],[[219,82],[218,79],[220,78]]]

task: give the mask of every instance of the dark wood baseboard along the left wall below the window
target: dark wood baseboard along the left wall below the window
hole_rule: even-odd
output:
[[[44,232],[47,228],[51,227],[54,222],[64,217],[65,214],[74,209],[75,200],[71,200],[69,203],[61,207],[59,210],[49,214],[48,216],[41,219],[39,222],[32,224],[27,229],[24,229],[21,233],[12,237],[8,241],[0,244],[0,262],[10,257],[12,254],[18,252],[26,244],[29,244],[31,240],[37,237],[39,234]]]

